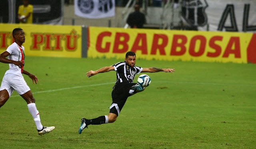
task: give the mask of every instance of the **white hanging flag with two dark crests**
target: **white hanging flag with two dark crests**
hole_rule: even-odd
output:
[[[75,15],[99,19],[115,16],[115,0],[74,0]]]

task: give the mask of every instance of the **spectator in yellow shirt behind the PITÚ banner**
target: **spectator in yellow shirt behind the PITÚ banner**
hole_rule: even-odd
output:
[[[29,4],[28,0],[22,0],[23,5],[19,6],[18,19],[20,23],[33,23],[33,6]]]

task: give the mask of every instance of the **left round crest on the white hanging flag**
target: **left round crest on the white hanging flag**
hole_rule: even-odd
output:
[[[93,0],[78,0],[78,8],[84,14],[90,14],[94,8]]]

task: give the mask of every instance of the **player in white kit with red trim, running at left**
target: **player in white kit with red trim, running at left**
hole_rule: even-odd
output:
[[[28,75],[32,79],[33,84],[37,84],[38,82],[38,78],[36,76],[23,69],[25,64],[25,54],[22,43],[25,42],[25,33],[22,29],[15,28],[12,31],[12,36],[15,42],[12,43],[12,45],[10,45],[6,51],[0,54],[0,62],[9,64],[9,70],[7,70],[4,74],[0,87],[0,108],[10,98],[12,92],[16,90],[16,92],[18,92],[18,94],[20,94],[20,96],[22,96],[22,98],[27,102],[28,110],[34,119],[38,134],[43,135],[52,131],[55,127],[45,127],[41,124],[35,99],[22,76],[22,74]],[[8,57],[8,59],[6,57]]]

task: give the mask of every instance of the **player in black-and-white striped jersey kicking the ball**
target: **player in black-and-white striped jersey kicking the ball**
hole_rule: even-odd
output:
[[[110,112],[108,116],[100,116],[88,120],[82,118],[81,126],[79,127],[78,133],[81,134],[84,128],[88,125],[100,125],[107,123],[114,123],[120,114],[120,111],[124,107],[124,104],[129,96],[132,96],[138,92],[143,91],[137,83],[133,83],[134,76],[139,73],[156,73],[160,71],[173,73],[175,69],[161,69],[161,68],[141,68],[135,66],[136,55],[134,52],[129,51],[126,53],[125,61],[116,63],[112,66],[103,67],[97,71],[89,71],[86,76],[91,77],[98,73],[106,73],[109,71],[116,71],[116,83],[112,90],[112,104],[110,106]]]

